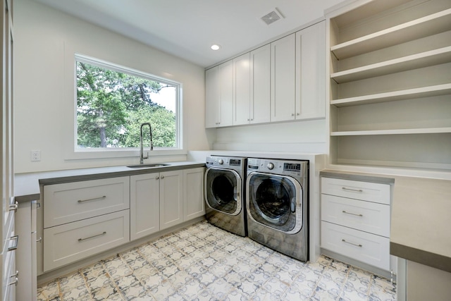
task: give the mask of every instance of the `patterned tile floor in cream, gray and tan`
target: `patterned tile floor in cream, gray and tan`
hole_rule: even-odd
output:
[[[299,262],[206,221],[57,278],[38,300],[396,300],[395,287],[320,257]]]

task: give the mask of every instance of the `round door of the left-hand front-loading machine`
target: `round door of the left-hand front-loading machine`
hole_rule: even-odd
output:
[[[231,169],[208,168],[205,171],[206,204],[217,211],[237,215],[242,209],[241,178]]]

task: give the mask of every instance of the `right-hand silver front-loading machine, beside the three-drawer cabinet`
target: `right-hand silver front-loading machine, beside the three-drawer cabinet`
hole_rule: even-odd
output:
[[[247,159],[248,236],[303,262],[309,260],[309,161]]]

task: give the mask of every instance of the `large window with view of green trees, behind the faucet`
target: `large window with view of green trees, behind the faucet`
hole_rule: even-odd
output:
[[[80,55],[75,63],[76,150],[140,147],[142,123],[156,149],[180,149],[179,83]]]

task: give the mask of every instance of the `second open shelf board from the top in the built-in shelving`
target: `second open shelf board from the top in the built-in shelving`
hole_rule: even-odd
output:
[[[440,63],[448,63],[450,61],[451,46],[332,73],[330,74],[330,78],[341,84],[343,82],[363,80],[365,78],[373,78],[376,76],[398,73],[404,70],[438,65]]]

